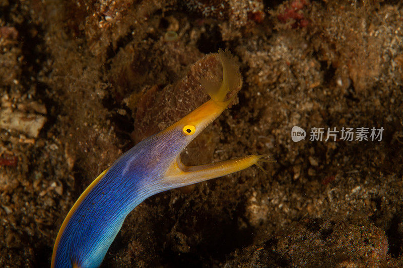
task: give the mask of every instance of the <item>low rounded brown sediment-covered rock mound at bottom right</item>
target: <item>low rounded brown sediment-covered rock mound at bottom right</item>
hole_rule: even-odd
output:
[[[303,218],[290,224],[286,235],[276,235],[271,243],[234,252],[225,266],[252,266],[257,259],[264,261],[263,267],[277,267],[279,261],[287,267],[379,267],[387,251],[385,232],[374,224]],[[279,260],[280,254],[284,257]],[[245,257],[240,259],[242,255]]]

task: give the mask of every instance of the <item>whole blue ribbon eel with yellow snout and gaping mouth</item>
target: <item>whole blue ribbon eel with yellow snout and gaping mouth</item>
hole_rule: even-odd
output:
[[[211,99],[125,152],[81,194],[57,234],[51,267],[98,267],[127,214],[152,195],[259,166],[266,155],[196,166],[180,160],[185,147],[228,107],[240,89],[236,60],[229,51],[220,50],[219,56],[221,85],[205,85]]]

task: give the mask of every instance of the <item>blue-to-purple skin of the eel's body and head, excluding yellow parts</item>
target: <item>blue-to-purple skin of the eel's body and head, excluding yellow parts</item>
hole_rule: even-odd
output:
[[[160,179],[189,139],[176,128],[141,141],[117,159],[66,225],[55,267],[98,267],[127,214],[147,197],[177,187]]]

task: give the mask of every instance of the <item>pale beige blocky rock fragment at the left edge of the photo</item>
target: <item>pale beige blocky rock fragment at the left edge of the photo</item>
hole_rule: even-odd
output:
[[[0,128],[24,133],[36,138],[46,123],[46,117],[35,113],[24,113],[11,108],[0,109]]]

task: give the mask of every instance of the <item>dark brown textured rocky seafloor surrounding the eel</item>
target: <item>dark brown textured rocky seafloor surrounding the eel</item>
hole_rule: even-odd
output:
[[[0,266],[48,266],[93,178],[208,99],[220,47],[243,87],[183,161],[277,163],[149,198],[103,266],[403,266],[402,15],[375,0],[0,1]],[[384,131],[309,141],[315,127]]]

